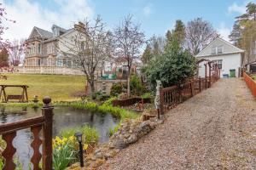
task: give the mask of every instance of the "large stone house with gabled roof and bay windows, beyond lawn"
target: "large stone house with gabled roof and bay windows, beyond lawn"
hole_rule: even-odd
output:
[[[67,66],[71,67],[72,59],[61,55],[60,39],[76,31],[74,28],[66,30],[60,26],[53,25],[51,31],[46,31],[36,26],[26,40],[25,66]]]

